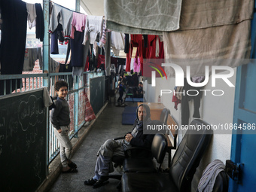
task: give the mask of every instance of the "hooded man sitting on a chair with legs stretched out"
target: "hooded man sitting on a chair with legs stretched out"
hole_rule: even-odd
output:
[[[108,180],[108,173],[113,172],[112,157],[124,157],[124,149],[130,147],[151,148],[154,135],[143,134],[143,123],[151,122],[151,114],[148,105],[142,104],[136,110],[137,118],[133,124],[131,133],[126,133],[123,140],[108,139],[98,151],[96,160],[95,175],[84,181],[86,185],[93,185],[93,188],[101,187]]]

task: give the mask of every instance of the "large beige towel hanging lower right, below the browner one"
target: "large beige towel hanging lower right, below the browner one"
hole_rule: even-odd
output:
[[[165,63],[175,63],[184,72],[190,66],[190,77],[206,76],[206,66],[241,66],[250,56],[250,31],[251,20],[245,20],[234,25],[164,32]],[[172,67],[165,67],[165,72],[169,77],[175,75]]]

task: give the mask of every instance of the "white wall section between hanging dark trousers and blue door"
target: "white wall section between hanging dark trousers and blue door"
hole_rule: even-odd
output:
[[[235,75],[229,78],[233,85],[236,85],[236,70]],[[205,89],[211,89],[212,81],[206,85]],[[225,123],[233,123],[233,105],[235,96],[235,87],[228,87],[222,80],[216,81],[216,90],[223,90],[223,96],[206,96],[203,98],[202,107],[202,119],[206,120],[207,123],[214,125]],[[209,150],[203,157],[200,166],[197,168],[197,172],[194,175],[192,182],[192,191],[197,190],[197,184],[200,181],[203,169],[212,160],[219,159],[224,164],[226,160],[230,160],[231,150],[231,131],[230,134],[220,134],[220,131],[215,130],[212,142],[209,146]]]

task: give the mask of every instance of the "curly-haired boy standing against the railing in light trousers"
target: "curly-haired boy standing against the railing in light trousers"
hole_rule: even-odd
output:
[[[62,172],[78,172],[77,165],[70,160],[72,143],[69,140],[69,104],[66,101],[69,85],[66,81],[56,81],[55,90],[58,95],[55,105],[50,114],[50,121],[54,126],[55,136],[60,143],[60,161]]]

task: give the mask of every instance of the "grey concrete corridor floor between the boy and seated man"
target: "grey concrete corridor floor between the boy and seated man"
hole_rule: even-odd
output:
[[[137,103],[126,102],[126,105],[137,106]],[[84,185],[84,180],[94,175],[96,153],[102,143],[107,139],[124,136],[133,129],[132,125],[122,125],[123,110],[123,107],[116,107],[114,103],[107,105],[72,157],[72,160],[78,165],[78,173],[60,174],[50,192],[117,191],[118,181],[115,179],[110,179],[109,184],[97,189]]]

